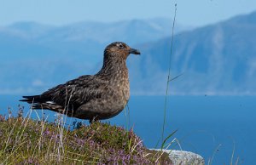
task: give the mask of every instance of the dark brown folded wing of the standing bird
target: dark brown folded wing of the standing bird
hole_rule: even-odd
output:
[[[85,75],[67,83],[50,88],[41,94],[42,98],[50,98],[57,105],[76,109],[94,98],[101,98],[108,86],[108,81],[96,76]]]

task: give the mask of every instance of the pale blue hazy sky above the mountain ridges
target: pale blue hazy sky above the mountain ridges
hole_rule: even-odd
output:
[[[0,0],[0,26],[24,20],[59,26],[84,20],[172,18],[175,3],[177,22],[189,26],[256,11],[256,0]]]

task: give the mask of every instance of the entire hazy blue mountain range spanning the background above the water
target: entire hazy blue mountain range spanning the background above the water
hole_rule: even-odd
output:
[[[170,94],[256,94],[256,12],[195,30],[175,26]],[[187,28],[188,29],[188,28]],[[172,20],[84,22],[0,28],[0,94],[35,94],[92,74],[108,43],[139,48],[128,67],[131,94],[165,94]]]

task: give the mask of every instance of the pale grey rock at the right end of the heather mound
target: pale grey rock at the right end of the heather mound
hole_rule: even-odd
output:
[[[153,149],[160,151],[160,149]],[[204,158],[190,151],[163,150],[169,154],[174,165],[205,165]]]

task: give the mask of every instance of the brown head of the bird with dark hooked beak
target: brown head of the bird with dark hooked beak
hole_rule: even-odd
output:
[[[129,54],[141,54],[139,50],[130,48],[126,43],[110,43],[104,51],[104,58],[121,58],[126,60]]]

